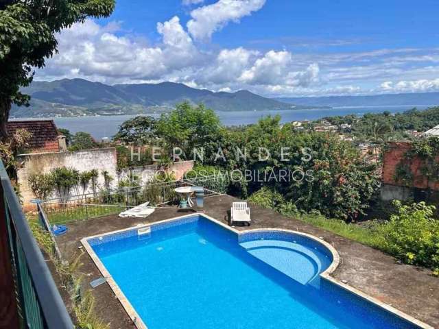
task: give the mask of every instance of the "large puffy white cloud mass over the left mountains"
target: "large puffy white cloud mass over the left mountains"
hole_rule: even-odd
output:
[[[110,27],[117,32],[114,25]],[[47,61],[43,73],[49,78],[69,72],[86,78],[99,75],[107,82],[154,80],[197,60],[200,53],[178,17],[158,23],[157,29],[163,45],[151,47],[144,40],[107,32],[108,25],[75,24],[58,37],[59,54]]]

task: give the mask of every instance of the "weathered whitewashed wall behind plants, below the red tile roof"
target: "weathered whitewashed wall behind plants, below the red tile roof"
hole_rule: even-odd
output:
[[[104,183],[101,172],[104,170],[117,179],[117,155],[113,147],[62,153],[21,154],[19,162],[22,166],[18,171],[18,178],[25,208],[29,208],[30,200],[35,198],[28,182],[28,178],[35,173],[48,173],[57,167],[71,167],[78,171],[99,170],[98,182],[101,186]],[[91,193],[90,188],[89,190],[88,193]]]

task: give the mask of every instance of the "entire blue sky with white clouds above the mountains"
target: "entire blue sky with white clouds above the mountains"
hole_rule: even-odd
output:
[[[118,0],[38,80],[173,81],[266,96],[439,90],[439,1]]]

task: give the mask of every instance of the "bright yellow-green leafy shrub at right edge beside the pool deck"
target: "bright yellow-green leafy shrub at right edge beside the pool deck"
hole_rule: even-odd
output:
[[[381,248],[405,263],[423,265],[439,273],[439,221],[433,218],[434,206],[425,202],[403,206],[379,226]]]

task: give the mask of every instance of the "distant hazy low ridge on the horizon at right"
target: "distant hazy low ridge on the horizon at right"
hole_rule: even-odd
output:
[[[370,96],[329,96],[276,98],[299,106],[433,106],[439,105],[439,93],[385,94]]]

